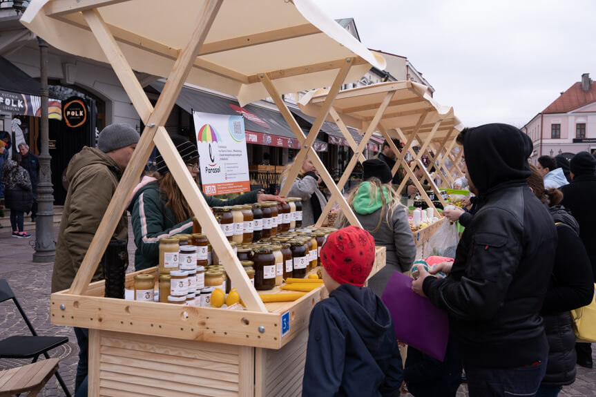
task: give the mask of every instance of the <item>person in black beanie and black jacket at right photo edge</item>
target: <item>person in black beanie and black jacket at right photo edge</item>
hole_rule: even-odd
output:
[[[596,275],[596,158],[588,152],[579,152],[569,162],[571,183],[561,187],[565,206],[579,223],[579,238],[584,242]],[[596,282],[596,280],[595,280]],[[577,364],[592,368],[592,347],[590,343],[577,343]]]

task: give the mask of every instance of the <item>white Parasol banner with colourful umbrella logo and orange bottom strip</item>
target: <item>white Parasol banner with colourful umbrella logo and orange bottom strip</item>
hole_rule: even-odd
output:
[[[206,195],[241,193],[251,188],[242,116],[193,112],[201,180]]]

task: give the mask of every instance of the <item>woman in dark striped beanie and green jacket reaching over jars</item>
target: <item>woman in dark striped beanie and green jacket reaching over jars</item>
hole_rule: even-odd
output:
[[[182,135],[172,135],[172,142],[194,180],[199,175],[199,153],[196,146]],[[131,212],[135,234],[135,270],[157,264],[160,238],[180,233],[192,233],[194,216],[189,203],[180,191],[162,155],[155,157],[157,172],[143,177],[135,187],[128,211]],[[278,196],[254,190],[232,200],[220,200],[203,194],[209,206],[232,206],[267,200],[282,201]]]

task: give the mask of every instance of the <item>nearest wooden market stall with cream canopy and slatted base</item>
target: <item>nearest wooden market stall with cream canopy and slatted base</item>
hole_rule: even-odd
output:
[[[339,197],[311,146],[342,84],[371,66],[384,69],[384,59],[311,0],[32,0],[21,22],[59,50],[108,62],[146,126],[75,281],[51,297],[52,323],[90,330],[89,394],[299,395],[309,313],[324,288],[295,302],[260,300],[164,123],[184,82],[234,95],[241,106],[269,96],[302,145],[295,164],[309,155]],[[135,72],[167,77],[155,108]],[[331,87],[329,95],[305,136],[281,94],[321,86]],[[247,310],[104,298],[104,282],[90,284],[154,146]],[[282,193],[288,190],[282,186]],[[340,205],[358,224],[345,200]],[[375,269],[384,264],[385,249],[378,248]]]

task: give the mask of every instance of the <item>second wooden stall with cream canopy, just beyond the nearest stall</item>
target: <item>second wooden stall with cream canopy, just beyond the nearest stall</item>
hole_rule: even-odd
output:
[[[318,114],[322,104],[327,100],[327,95],[329,93],[325,89],[307,93],[298,103],[300,110],[307,115]],[[336,96],[329,109],[327,120],[337,124],[354,151],[352,159],[338,182],[339,188],[343,188],[356,163],[365,160],[362,155],[363,149],[372,133],[379,130],[396,153],[396,164],[392,169],[392,174],[395,175],[399,166],[403,166],[406,172],[406,177],[400,186],[397,186],[396,191],[401,192],[407,180],[412,180],[423,200],[428,206],[435,209],[436,213],[432,200],[421,185],[421,182],[427,180],[437,200],[443,206],[446,205],[439,186],[434,183],[433,178],[421,162],[421,158],[423,154],[426,154],[430,164],[434,164],[438,171],[443,169],[444,160],[448,157],[452,158],[450,155],[452,155],[455,138],[463,126],[454,115],[453,108],[441,106],[432,99],[426,86],[412,81],[390,81],[344,90]],[[360,144],[356,145],[346,126],[357,128],[363,135]],[[398,151],[391,138],[398,138],[405,142],[401,151]],[[416,145],[420,146],[418,153],[412,151]],[[411,166],[408,166],[405,161],[407,151],[411,151],[414,157]],[[434,152],[434,155],[431,151]],[[457,155],[456,159],[452,159],[454,166],[458,166],[456,162],[460,156]],[[414,176],[416,166],[419,166],[424,172],[421,181]],[[461,173],[461,170],[459,171]],[[452,170],[445,170],[443,180],[453,182]],[[323,209],[323,214],[317,222],[318,225],[322,224],[324,217],[329,213],[336,200],[342,200],[342,197],[338,197],[337,194],[334,193],[327,202],[327,206]],[[444,218],[424,229],[413,231],[416,245],[425,244],[441,222],[444,222]]]

